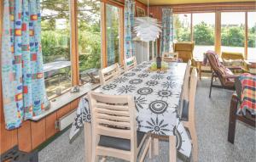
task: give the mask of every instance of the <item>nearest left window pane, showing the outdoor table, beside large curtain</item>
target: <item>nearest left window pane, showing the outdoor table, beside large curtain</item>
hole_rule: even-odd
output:
[[[67,0],[41,1],[44,79],[49,97],[72,86],[70,11]]]

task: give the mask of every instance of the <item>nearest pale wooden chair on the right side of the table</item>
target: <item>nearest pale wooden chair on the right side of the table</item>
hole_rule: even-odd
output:
[[[181,120],[183,126],[188,128],[192,145],[193,145],[193,161],[198,161],[198,145],[197,145],[197,136],[195,131],[195,92],[197,85],[197,71],[193,68],[190,81],[189,81],[189,103],[183,105],[183,113],[181,115]],[[187,108],[186,108],[187,107]]]

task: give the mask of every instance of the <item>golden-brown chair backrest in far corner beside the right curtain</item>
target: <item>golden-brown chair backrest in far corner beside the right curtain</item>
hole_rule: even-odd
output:
[[[175,53],[178,53],[179,59],[187,63],[189,59],[193,58],[194,47],[194,42],[177,42],[174,43],[173,50]]]

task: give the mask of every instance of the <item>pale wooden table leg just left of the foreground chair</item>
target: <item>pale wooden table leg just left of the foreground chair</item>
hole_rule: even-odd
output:
[[[84,123],[84,150],[85,161],[91,161],[91,125],[88,122]]]

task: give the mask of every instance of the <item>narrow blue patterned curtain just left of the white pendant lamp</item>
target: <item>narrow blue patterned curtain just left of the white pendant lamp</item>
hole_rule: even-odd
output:
[[[132,27],[134,25],[134,0],[125,0],[125,57],[134,55],[134,44],[132,41]]]

